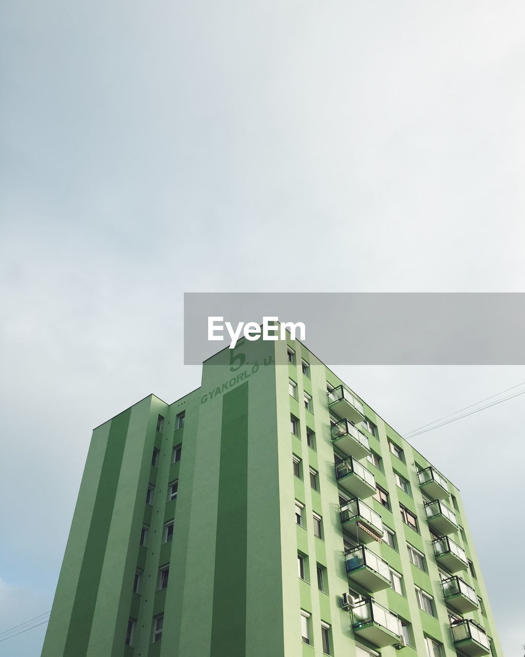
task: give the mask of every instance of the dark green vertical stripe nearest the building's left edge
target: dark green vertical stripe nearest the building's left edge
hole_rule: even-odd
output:
[[[64,657],[82,657],[87,652],[130,417],[128,409],[111,422]]]

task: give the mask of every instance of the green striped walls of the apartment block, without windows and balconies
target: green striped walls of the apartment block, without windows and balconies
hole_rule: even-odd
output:
[[[295,365],[286,361],[284,342],[244,341],[222,350],[203,364],[198,390],[171,405],[146,397],[95,429],[43,657],[320,657],[321,622],[331,627],[332,654],[356,654],[351,616],[341,608],[349,581],[326,400],[327,382],[341,382],[304,345],[290,345]],[[301,371],[303,358],[309,376]],[[297,383],[297,399],[289,396],[289,378]],[[312,397],[312,412],[302,401],[304,392]],[[182,411],[184,426],[177,428]],[[383,471],[366,459],[361,463],[389,491],[390,509],[372,498],[366,503],[397,538],[397,549],[377,542],[368,547],[404,580],[404,595],[387,589],[373,597],[408,620],[413,631],[413,647],[386,647],[381,654],[425,655],[428,635],[442,643],[443,657],[453,656],[417,482],[416,464],[428,463],[366,404],[365,412],[377,425],[377,436],[365,432],[383,459]],[[291,434],[290,413],[299,419],[300,438]],[[307,445],[306,428],[315,432],[315,449]],[[404,449],[404,462],[390,453],[389,438]],[[172,463],[179,443],[182,458]],[[302,461],[302,480],[293,475],[292,454]],[[310,467],[318,471],[319,491],[310,486]],[[396,486],[394,472],[410,482],[410,495]],[[168,501],[169,483],[177,479],[177,498]],[[151,504],[148,484],[154,486]],[[461,577],[482,597],[486,613],[465,618],[484,625],[502,657],[459,491],[452,484],[450,490],[465,535],[451,537],[465,548],[477,574]],[[304,528],[295,523],[296,499],[305,506]],[[419,532],[402,522],[400,503],[417,515]],[[322,539],[314,535],[312,512],[322,516]],[[169,520],[175,533],[165,543]],[[140,546],[143,524],[146,547]],[[407,542],[425,554],[428,572],[410,563]],[[306,558],[306,581],[298,577],[298,551]],[[159,568],[167,564],[169,584],[159,591]],[[324,592],[317,586],[318,564],[326,569]],[[137,568],[143,572],[133,593]],[[434,597],[435,617],[417,606],[415,585]],[[366,593],[353,584],[352,589]],[[310,614],[311,645],[301,643],[301,609]],[[158,614],[164,614],[162,640],[152,643]],[[125,646],[129,618],[135,620],[133,646]]]

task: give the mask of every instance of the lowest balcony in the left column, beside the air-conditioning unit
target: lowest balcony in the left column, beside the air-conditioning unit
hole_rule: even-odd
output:
[[[401,645],[401,625],[396,614],[371,598],[352,609],[354,635],[377,646]]]

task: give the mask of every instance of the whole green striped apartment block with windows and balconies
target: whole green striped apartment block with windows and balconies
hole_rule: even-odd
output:
[[[98,426],[43,657],[501,647],[459,491],[300,342]]]

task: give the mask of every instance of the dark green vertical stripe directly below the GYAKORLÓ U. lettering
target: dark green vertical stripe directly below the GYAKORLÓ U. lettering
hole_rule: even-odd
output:
[[[222,398],[210,657],[245,657],[248,384]]]

